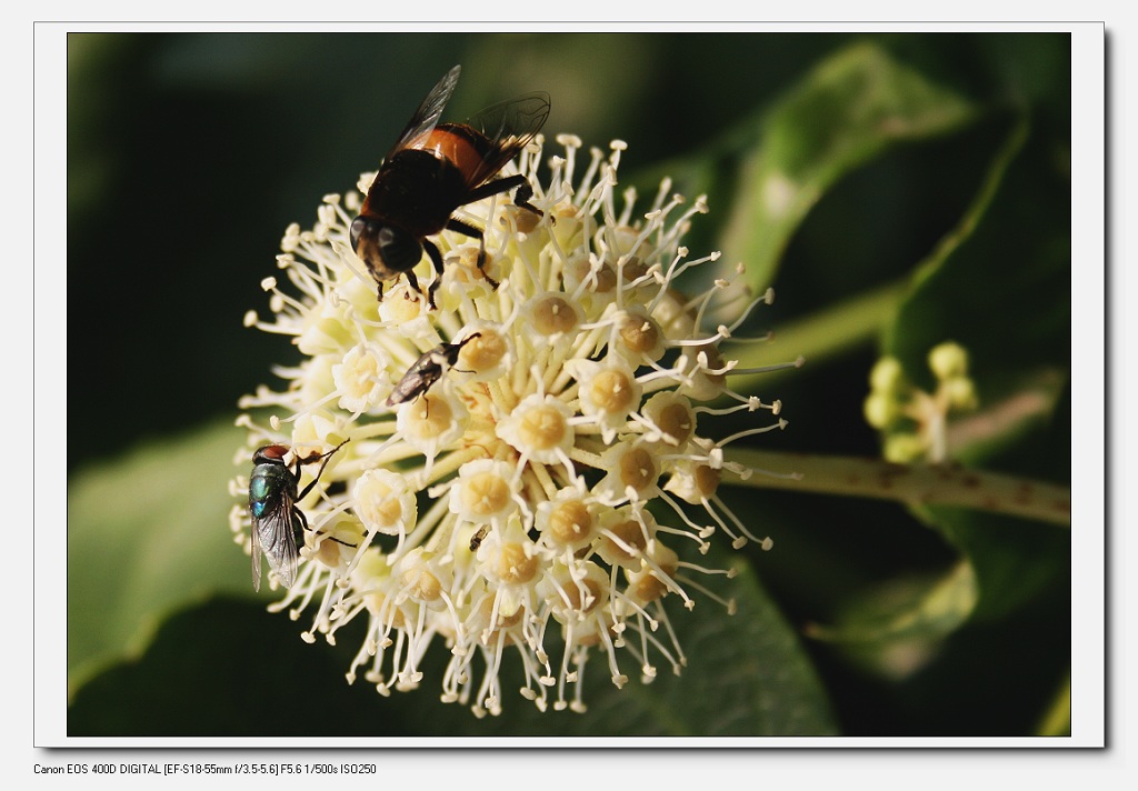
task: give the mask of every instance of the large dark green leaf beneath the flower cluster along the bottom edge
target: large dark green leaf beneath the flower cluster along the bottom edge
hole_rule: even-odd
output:
[[[239,554],[239,553],[238,553]],[[699,596],[693,611],[669,611],[687,658],[682,675],[660,664],[642,684],[636,668],[622,689],[594,651],[583,673],[588,709],[539,712],[517,694],[520,668],[508,651],[500,717],[478,719],[439,701],[450,657],[431,646],[420,689],[384,698],[345,682],[362,642],[358,624],[337,646],[304,643],[306,625],[231,599],[192,607],[166,620],[137,661],[92,678],[74,697],[69,735],[295,736],[762,736],[832,735],[830,703],[800,641],[742,559],[712,549],[704,562],[734,560],[733,580],[712,580],[735,599],[727,615]],[[720,566],[721,567],[721,566]],[[661,635],[663,627],[661,626]],[[659,635],[658,635],[659,636]],[[627,635],[635,640],[634,635]],[[665,637],[666,640],[666,637]],[[632,659],[622,653],[622,662]],[[552,661],[559,656],[553,654]],[[478,667],[476,662],[476,668]],[[571,694],[571,690],[570,690]]]

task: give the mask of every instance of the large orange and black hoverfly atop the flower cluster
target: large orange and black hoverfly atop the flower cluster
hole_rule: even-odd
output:
[[[428,300],[435,306],[435,290],[443,277],[443,256],[427,239],[444,229],[478,239],[478,269],[486,265],[483,231],[451,215],[460,206],[517,188],[516,206],[541,215],[529,203],[534,195],[521,174],[494,176],[534,139],[550,114],[546,93],[529,93],[492,105],[462,124],[440,124],[439,116],[459,82],[455,66],[427,94],[407,122],[398,142],[384,158],[360,216],[352,221],[352,249],[379,283],[407,275],[419,290],[412,267],[426,248],[435,265]],[[485,273],[484,273],[484,277]],[[497,288],[497,283],[487,277]]]

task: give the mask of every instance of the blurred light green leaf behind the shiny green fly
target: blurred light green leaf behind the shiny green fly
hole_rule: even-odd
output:
[[[139,652],[166,615],[247,591],[249,559],[228,528],[244,431],[230,425],[148,444],[67,486],[67,676],[74,691]]]

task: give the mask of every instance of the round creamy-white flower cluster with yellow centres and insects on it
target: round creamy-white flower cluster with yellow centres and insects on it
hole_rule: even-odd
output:
[[[753,538],[717,496],[725,471],[747,471],[724,461],[725,442],[700,434],[701,415],[780,411],[727,388],[734,363],[719,344],[735,327],[702,328],[728,283],[694,298],[675,287],[718,257],[688,259],[679,244],[704,200],[685,206],[666,181],[634,220],[634,191],[616,191],[624,143],[583,163],[580,141],[559,137],[564,155],[551,157],[543,187],[542,142],[510,167],[530,180],[543,215],[502,197],[461,209],[486,229],[485,274],[477,241],[440,234],[437,310],[403,279],[377,300],[348,244],[361,203],[352,192],[325,197],[312,230],[288,229],[278,263],[291,288],[266,280],[273,319],[246,321],[291,336],[305,360],[278,369],[283,392],[242,399],[269,417],[239,419],[251,443],[239,462],[247,469],[266,443],[308,454],[348,440],[298,503],[310,529],[296,582],[273,608],[313,611],[310,642],[366,619],[347,677],[384,694],[415,687],[428,646],[444,643],[443,699],[479,715],[501,711],[506,650],[521,657],[521,694],[543,710],[584,709],[580,674],[594,651],[618,686],[629,666],[650,679],[659,658],[679,671],[686,659],[662,600],[691,609],[693,591],[712,595],[699,576],[728,574],[681,555],[706,552],[714,533],[735,546]],[[430,282],[429,262],[417,273]],[[389,405],[423,360],[431,376]],[[234,493],[247,487],[238,476]],[[234,505],[247,547],[249,521]]]

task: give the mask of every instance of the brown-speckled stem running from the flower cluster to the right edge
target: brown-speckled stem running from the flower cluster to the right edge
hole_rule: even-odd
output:
[[[726,460],[752,475],[733,484],[896,500],[909,505],[956,505],[1071,526],[1071,489],[1026,478],[948,464],[894,464],[880,459],[732,450]]]

